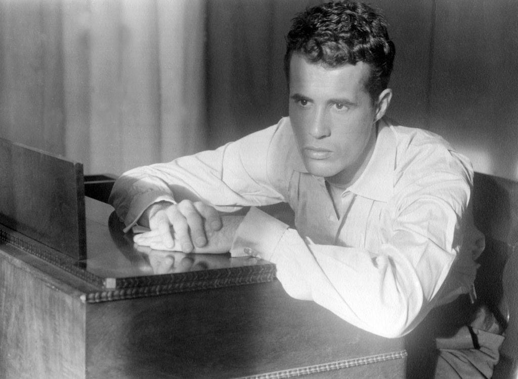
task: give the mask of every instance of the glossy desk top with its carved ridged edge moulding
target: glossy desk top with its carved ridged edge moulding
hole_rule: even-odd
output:
[[[108,204],[85,197],[87,259],[76,260],[0,224],[0,241],[49,262],[93,290],[85,301],[100,302],[181,291],[271,281],[275,265],[249,256],[184,254],[136,246]]]

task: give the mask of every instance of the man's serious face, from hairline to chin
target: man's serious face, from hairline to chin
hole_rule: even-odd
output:
[[[294,54],[290,119],[306,169],[331,183],[359,177],[376,143],[376,106],[365,88],[363,62],[327,68]]]

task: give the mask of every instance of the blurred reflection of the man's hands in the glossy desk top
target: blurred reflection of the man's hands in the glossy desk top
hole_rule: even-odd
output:
[[[191,254],[180,251],[153,250],[148,246],[135,245],[146,255],[153,274],[174,274],[228,267],[229,257],[221,254]]]

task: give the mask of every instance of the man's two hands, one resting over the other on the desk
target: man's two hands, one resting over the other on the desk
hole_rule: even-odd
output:
[[[230,249],[241,220],[242,216],[220,218],[217,210],[200,201],[160,202],[139,220],[151,231],[136,235],[134,241],[155,250],[222,253]]]

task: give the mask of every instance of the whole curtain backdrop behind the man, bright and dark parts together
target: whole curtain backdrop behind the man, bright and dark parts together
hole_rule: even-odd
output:
[[[119,174],[287,114],[284,39],[320,0],[0,0],[0,137]],[[389,115],[518,178],[518,2],[375,0]]]

